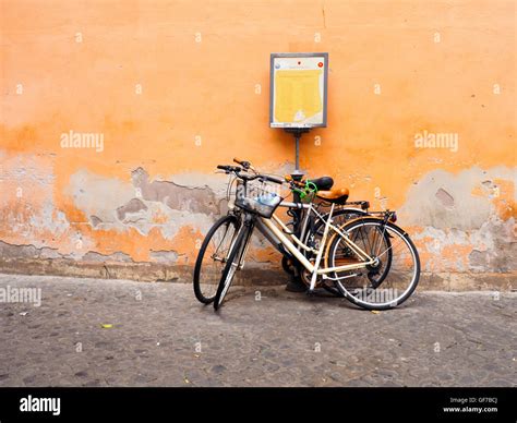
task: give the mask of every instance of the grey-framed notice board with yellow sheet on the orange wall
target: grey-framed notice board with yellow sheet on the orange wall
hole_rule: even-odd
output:
[[[272,53],[269,126],[327,125],[328,53]]]

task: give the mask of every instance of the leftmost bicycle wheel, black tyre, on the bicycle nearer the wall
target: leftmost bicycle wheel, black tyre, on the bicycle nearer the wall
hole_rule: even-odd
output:
[[[215,299],[238,229],[239,219],[236,216],[224,216],[203,240],[194,267],[194,293],[203,304],[209,304]]]

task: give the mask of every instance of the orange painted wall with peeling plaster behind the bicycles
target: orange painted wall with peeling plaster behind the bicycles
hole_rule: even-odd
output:
[[[328,51],[328,128],[302,140],[303,169],[400,209],[429,271],[513,271],[515,23],[501,0],[1,0],[0,240],[192,263],[209,219],[148,194],[120,221],[132,172],[202,197],[233,156],[289,169],[269,53]],[[104,134],[103,152],[62,148],[70,130]],[[422,131],[457,150],[417,148]]]

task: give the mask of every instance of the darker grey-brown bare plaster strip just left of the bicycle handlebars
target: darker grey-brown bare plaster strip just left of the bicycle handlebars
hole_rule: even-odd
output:
[[[147,172],[142,168],[132,172],[132,179],[146,201],[160,202],[177,210],[218,214],[215,194],[206,185],[185,188],[169,181],[149,182]]]

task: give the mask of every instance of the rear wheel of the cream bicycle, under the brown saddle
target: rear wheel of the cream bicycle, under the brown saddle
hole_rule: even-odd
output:
[[[352,220],[341,231],[374,259],[363,268],[332,274],[342,295],[366,310],[388,310],[405,302],[420,279],[420,258],[406,231],[372,217]],[[340,235],[330,241],[327,259],[328,267],[362,262]]]

